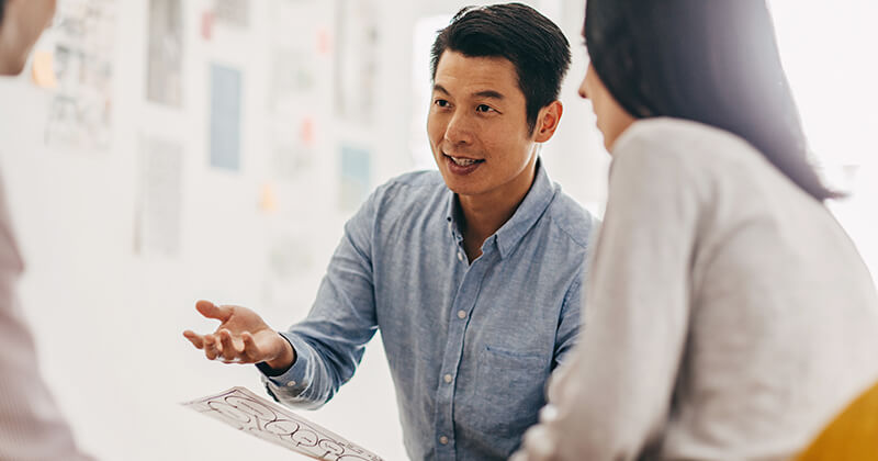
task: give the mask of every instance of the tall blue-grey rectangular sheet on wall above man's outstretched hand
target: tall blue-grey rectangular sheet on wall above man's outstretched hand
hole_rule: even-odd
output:
[[[211,166],[240,169],[241,75],[211,65]]]

